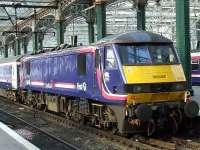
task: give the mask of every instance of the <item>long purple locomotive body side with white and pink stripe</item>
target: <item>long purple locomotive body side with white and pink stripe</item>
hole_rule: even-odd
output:
[[[102,73],[95,68],[95,50],[87,47],[25,57],[21,64],[21,88],[124,105],[127,95],[111,94],[110,87],[102,84]],[[110,82],[122,84],[120,76],[116,76],[119,69],[111,72],[115,78]]]

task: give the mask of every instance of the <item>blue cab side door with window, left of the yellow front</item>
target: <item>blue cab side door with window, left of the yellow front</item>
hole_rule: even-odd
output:
[[[121,75],[118,69],[116,56],[111,46],[106,46],[104,50],[104,71],[103,82],[109,93],[117,93],[121,82]]]

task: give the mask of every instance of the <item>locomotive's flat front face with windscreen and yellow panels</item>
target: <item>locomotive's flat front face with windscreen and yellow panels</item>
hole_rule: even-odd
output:
[[[171,43],[117,44],[116,49],[129,104],[184,100],[186,80]]]

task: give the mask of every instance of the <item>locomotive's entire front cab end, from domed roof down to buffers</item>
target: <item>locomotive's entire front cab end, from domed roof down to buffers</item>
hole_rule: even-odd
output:
[[[177,131],[184,117],[197,116],[199,107],[186,89],[172,41],[149,32],[134,32],[99,43],[105,91],[127,95],[121,106],[110,106],[120,132],[145,129],[150,135],[156,128],[166,127]]]

